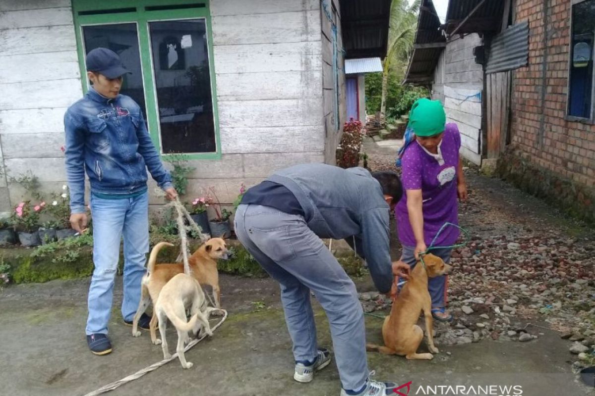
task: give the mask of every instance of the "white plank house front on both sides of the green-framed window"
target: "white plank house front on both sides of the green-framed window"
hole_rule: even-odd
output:
[[[214,186],[221,201],[233,202],[242,182],[324,161],[327,144],[334,160],[336,142],[325,140],[320,1],[211,1],[223,156],[192,161],[189,196]],[[31,170],[45,192],[65,181],[62,120],[82,97],[70,7],[70,0],[0,0],[1,160],[8,176]],[[151,203],[161,204],[154,186]],[[0,211],[23,194],[2,176]]]

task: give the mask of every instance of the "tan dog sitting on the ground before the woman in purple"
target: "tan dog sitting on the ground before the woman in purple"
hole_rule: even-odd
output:
[[[424,265],[425,263],[425,265]],[[390,315],[384,318],[382,337],[384,347],[368,344],[368,351],[385,354],[397,354],[407,359],[433,359],[432,353],[439,350],[434,346],[432,300],[428,292],[428,278],[450,273],[452,267],[433,254],[424,255],[424,261],[418,261],[409,280],[393,302]],[[431,353],[417,353],[424,332],[417,325],[419,314],[424,312],[425,334]]]

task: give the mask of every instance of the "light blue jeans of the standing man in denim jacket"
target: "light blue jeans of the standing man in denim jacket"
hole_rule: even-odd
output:
[[[102,199],[91,195],[93,216],[93,264],[89,287],[87,335],[107,334],[111,314],[114,278],[124,236],[124,299],[122,316],[131,321],[139,306],[140,280],[145,274],[149,252],[149,195]]]

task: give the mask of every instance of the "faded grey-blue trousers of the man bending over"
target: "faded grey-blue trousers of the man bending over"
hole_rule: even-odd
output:
[[[317,356],[310,290],[327,314],[343,389],[368,378],[364,312],[355,284],[302,216],[261,205],[240,205],[236,235],[281,286],[281,302],[295,360]]]

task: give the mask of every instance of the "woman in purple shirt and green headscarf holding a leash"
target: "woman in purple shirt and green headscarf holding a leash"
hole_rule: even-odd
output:
[[[444,223],[458,224],[457,197],[465,201],[467,188],[459,156],[461,134],[455,123],[446,123],[442,104],[419,99],[411,107],[408,128],[415,137],[400,159],[406,194],[395,208],[395,217],[403,246],[402,260],[414,267],[419,254],[427,250]],[[458,236],[458,229],[445,227],[434,246],[453,245]],[[451,251],[452,248],[440,248],[431,253],[449,262]],[[432,316],[439,321],[451,321],[445,303],[446,277],[430,278],[428,290]]]

